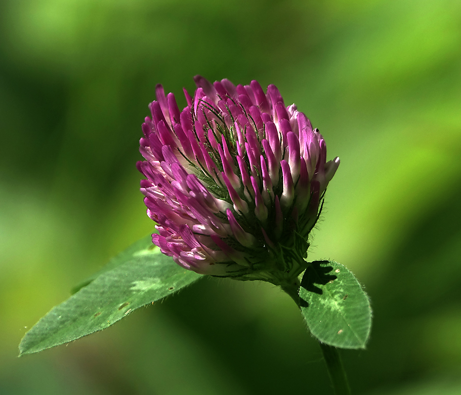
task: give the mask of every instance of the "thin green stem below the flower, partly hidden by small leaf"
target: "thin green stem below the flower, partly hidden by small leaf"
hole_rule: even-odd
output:
[[[299,282],[299,281],[298,281]],[[296,305],[299,306],[299,286],[298,282],[281,285],[282,289],[288,293]],[[333,385],[335,395],[350,395],[349,383],[347,382],[346,372],[341,362],[338,349],[328,344],[320,343],[325,363],[327,364],[328,375]]]

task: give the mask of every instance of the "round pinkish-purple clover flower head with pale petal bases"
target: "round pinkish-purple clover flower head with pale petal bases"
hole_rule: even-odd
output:
[[[200,274],[276,285],[307,266],[307,238],[339,158],[275,87],[194,78],[187,107],[156,87],[137,167],[152,241]]]

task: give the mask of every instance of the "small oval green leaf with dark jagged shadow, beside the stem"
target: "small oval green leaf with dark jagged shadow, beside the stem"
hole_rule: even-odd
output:
[[[301,313],[322,343],[363,349],[371,329],[368,296],[355,276],[335,261],[316,261],[306,269],[299,289]]]

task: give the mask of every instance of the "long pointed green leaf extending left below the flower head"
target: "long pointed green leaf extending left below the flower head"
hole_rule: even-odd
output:
[[[162,254],[150,237],[128,247],[98,274],[26,333],[19,345],[20,356],[107,328],[202,277]]]

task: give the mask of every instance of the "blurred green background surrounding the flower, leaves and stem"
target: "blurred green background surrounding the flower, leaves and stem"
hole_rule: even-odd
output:
[[[309,258],[366,285],[355,394],[461,394],[459,0],[3,0],[0,394],[331,394],[293,301],[203,279],[17,358],[69,290],[153,229],[135,169],[163,83],[275,83],[341,165]]]

